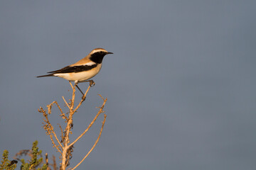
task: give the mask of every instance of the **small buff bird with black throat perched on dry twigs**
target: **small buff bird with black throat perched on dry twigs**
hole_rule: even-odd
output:
[[[90,81],[90,86],[93,86],[95,82],[89,79],[92,79],[92,77],[95,77],[95,75],[100,72],[103,58],[105,55],[110,54],[114,53],[108,52],[103,48],[95,48],[89,53],[89,55],[82,58],[82,60],[38,77],[61,77],[68,81],[75,81],[75,86],[77,87],[78,83]],[[79,87],[78,89],[80,90]],[[82,93],[81,90],[80,92]]]

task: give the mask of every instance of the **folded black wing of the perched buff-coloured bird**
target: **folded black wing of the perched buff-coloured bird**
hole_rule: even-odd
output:
[[[58,69],[58,70],[55,70],[53,72],[48,72],[48,73],[52,73],[52,74],[55,74],[55,73],[70,73],[70,72],[85,72],[85,71],[88,71],[90,69],[93,69],[97,67],[97,64],[92,64],[92,65],[79,65],[79,66],[67,66],[67,67],[64,67],[62,69]]]

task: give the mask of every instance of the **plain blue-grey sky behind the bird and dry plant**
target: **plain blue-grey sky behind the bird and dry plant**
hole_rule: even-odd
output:
[[[0,152],[14,156],[38,140],[58,157],[37,109],[63,106],[70,86],[35,77],[103,47],[114,55],[93,78],[73,137],[97,113],[97,94],[109,99],[107,121],[78,169],[256,169],[255,8],[250,0],[0,1]],[[75,145],[70,167],[102,119]]]

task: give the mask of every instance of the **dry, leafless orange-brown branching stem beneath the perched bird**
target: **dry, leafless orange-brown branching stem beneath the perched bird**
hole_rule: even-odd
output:
[[[65,102],[65,105],[68,106],[68,110],[69,110],[68,113],[66,113],[66,114],[63,113],[63,110],[60,108],[57,101],[53,101],[52,103],[50,103],[50,105],[47,106],[47,108],[48,108],[47,113],[41,107],[40,107],[40,109],[38,109],[38,111],[40,113],[43,113],[43,117],[44,117],[43,128],[46,130],[46,135],[50,136],[50,140],[53,144],[53,147],[55,147],[58,150],[58,152],[60,152],[60,162],[61,162],[60,169],[61,170],[65,170],[66,167],[70,164],[70,159],[72,158],[73,146],[75,145],[76,142],[78,142],[78,140],[80,140],[81,137],[83,137],[85,135],[85,133],[88,130],[90,130],[92,125],[95,123],[95,121],[99,117],[100,113],[104,112],[103,108],[105,106],[105,103],[107,102],[107,98],[103,98],[101,95],[99,95],[103,100],[102,106],[99,107],[100,110],[97,112],[97,114],[95,115],[95,118],[92,120],[90,125],[88,125],[88,127],[84,130],[84,132],[82,132],[82,134],[79,137],[77,137],[73,142],[70,142],[70,134],[72,134],[71,128],[73,128],[73,115],[74,115],[74,113],[76,113],[78,111],[78,108],[80,108],[80,106],[82,105],[82,102],[85,101],[88,91],[91,88],[91,86],[88,86],[87,91],[82,96],[82,99],[80,100],[78,105],[75,106],[75,88],[76,88],[76,86],[75,85],[73,86],[71,84],[71,82],[70,82],[70,86],[73,89],[70,102],[67,103],[67,101],[65,101],[65,98],[63,97],[63,101]],[[51,125],[50,120],[48,118],[48,116],[51,114],[51,109],[53,108],[53,104],[55,104],[58,107],[58,109],[60,111],[60,117],[62,117],[65,120],[65,129],[63,129],[60,124],[58,124],[59,128],[60,128],[60,139],[58,139],[58,137],[57,137],[58,135],[56,135],[53,125]],[[82,159],[82,161],[79,162],[73,169],[78,167],[97,145],[97,142],[100,140],[100,136],[101,136],[102,130],[104,128],[106,118],[107,118],[107,115],[104,115],[104,120],[102,122],[102,128],[100,130],[99,136],[97,137],[97,140],[95,141],[95,144],[92,146],[90,151],[85,155],[85,157]],[[56,166],[54,169],[56,169]]]

